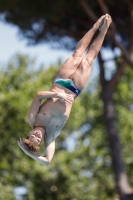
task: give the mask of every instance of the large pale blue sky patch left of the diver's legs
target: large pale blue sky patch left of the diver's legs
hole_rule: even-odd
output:
[[[0,64],[8,62],[16,53],[36,57],[37,63],[49,66],[59,58],[65,61],[72,52],[52,49],[48,44],[28,46],[27,40],[20,37],[17,27],[0,21]]]

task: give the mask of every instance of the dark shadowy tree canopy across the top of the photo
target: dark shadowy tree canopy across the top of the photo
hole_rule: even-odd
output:
[[[97,0],[87,0],[86,3],[98,17],[103,15]],[[3,0],[0,1],[0,12],[5,14],[6,22],[19,27],[29,43],[54,41],[54,45],[59,46],[60,42],[60,47],[73,49],[75,42],[82,38],[95,20],[93,15],[88,18],[81,4],[82,0]],[[105,0],[105,4],[114,20],[118,36],[127,46],[131,27],[127,1]]]

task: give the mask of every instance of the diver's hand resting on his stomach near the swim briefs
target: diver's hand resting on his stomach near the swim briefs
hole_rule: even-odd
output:
[[[71,94],[57,93],[57,98],[63,103],[72,103],[74,97]]]

